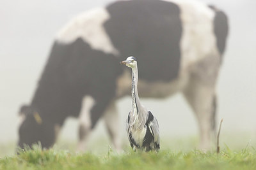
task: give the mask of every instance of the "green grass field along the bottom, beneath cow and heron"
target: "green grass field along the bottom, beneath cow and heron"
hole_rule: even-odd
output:
[[[164,138],[159,153],[134,153],[127,139],[124,152],[115,153],[99,138],[87,153],[75,153],[76,143],[61,139],[50,150],[40,145],[14,154],[15,143],[0,145],[0,169],[256,169],[256,143],[250,136],[223,134],[221,152],[196,150],[198,138]]]

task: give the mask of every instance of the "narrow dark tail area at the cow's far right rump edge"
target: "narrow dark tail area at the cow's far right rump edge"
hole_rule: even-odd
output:
[[[211,8],[215,12],[214,34],[216,36],[218,50],[220,52],[220,55],[222,56],[225,51],[228,35],[228,17],[223,11],[219,10],[215,6],[210,5],[209,8]]]

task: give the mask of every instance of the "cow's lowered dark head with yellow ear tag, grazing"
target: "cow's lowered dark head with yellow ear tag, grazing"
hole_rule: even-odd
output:
[[[23,148],[24,145],[31,146],[40,142],[42,147],[49,148],[54,143],[55,133],[54,124],[51,118],[47,121],[42,118],[40,112],[33,106],[22,106],[19,116],[21,119],[19,126],[19,143]]]

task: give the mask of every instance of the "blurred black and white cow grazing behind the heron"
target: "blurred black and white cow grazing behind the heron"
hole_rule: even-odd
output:
[[[119,62],[134,55],[140,96],[182,92],[198,120],[200,148],[209,148],[227,31],[225,13],[194,1],[116,1],[81,13],[56,35],[31,104],[20,110],[19,146],[52,146],[66,118],[77,117],[78,148],[99,118],[120,148],[116,100],[131,93],[131,71]]]

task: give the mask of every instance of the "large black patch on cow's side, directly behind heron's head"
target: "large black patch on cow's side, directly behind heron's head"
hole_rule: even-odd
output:
[[[104,27],[120,60],[137,57],[141,80],[170,81],[180,68],[182,24],[177,4],[166,1],[118,1],[107,7]]]

